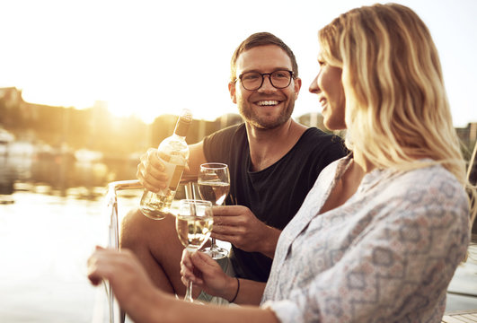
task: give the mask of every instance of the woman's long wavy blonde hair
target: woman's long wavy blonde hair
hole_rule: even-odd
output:
[[[416,13],[401,4],[363,6],[325,26],[319,41],[322,58],[342,69],[350,148],[378,168],[411,170],[430,158],[471,188],[437,48]]]

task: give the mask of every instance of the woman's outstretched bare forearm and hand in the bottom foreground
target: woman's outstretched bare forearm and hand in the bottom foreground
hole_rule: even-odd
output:
[[[198,305],[177,300],[154,287],[136,256],[128,250],[97,248],[88,259],[88,278],[94,285],[108,280],[120,308],[136,323],[278,322],[272,310]],[[248,289],[248,284],[244,284],[243,292]]]

